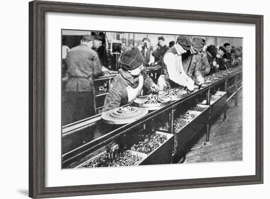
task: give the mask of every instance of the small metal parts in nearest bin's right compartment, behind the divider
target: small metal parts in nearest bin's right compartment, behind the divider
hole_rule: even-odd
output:
[[[138,144],[134,144],[131,147],[131,150],[149,154],[167,140],[167,137],[165,135],[158,133],[146,134],[142,137],[144,138],[144,140],[140,141]]]

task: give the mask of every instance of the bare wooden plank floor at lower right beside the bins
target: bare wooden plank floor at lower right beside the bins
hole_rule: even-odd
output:
[[[223,112],[221,112],[210,124],[210,142],[213,145],[192,149],[194,145],[205,142],[206,128],[202,129],[192,139],[191,150],[187,152],[184,163],[242,160],[242,91],[239,92],[238,106],[234,106],[234,99],[232,99],[227,107],[227,121],[223,121]]]

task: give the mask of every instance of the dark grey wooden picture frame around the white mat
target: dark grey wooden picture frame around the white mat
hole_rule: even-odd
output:
[[[64,187],[45,186],[45,13],[76,13],[254,24],[256,29],[255,175]],[[54,1],[29,2],[29,197],[49,198],[263,183],[263,16]]]

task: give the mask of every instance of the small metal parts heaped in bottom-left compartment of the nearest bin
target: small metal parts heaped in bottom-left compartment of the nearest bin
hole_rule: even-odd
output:
[[[86,164],[82,168],[95,168],[95,167],[118,167],[118,166],[135,166],[142,160],[142,157],[132,154],[130,151],[119,153],[116,158],[110,159],[107,153],[103,153]]]

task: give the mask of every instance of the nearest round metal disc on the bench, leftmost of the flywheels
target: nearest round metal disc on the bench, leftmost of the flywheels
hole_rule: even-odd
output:
[[[107,124],[128,124],[145,116],[148,110],[135,106],[120,107],[107,111],[101,115],[101,119]]]

